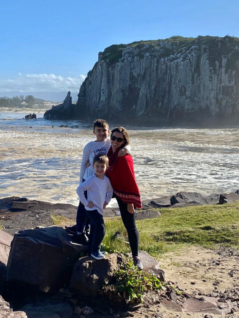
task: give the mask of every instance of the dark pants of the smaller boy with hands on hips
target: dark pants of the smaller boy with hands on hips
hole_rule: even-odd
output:
[[[85,210],[88,218],[91,220],[91,232],[88,242],[88,253],[100,251],[100,245],[105,236],[105,223],[103,216],[97,210]]]

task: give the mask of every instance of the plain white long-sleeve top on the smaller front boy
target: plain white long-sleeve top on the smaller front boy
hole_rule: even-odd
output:
[[[88,200],[84,196],[84,191],[87,190]],[[104,215],[103,205],[105,202],[109,203],[113,189],[108,177],[104,176],[104,179],[99,179],[95,174],[87,178],[76,189],[78,197],[81,203],[84,204],[85,209],[88,211],[97,210],[101,215]],[[86,206],[89,201],[93,202],[93,208]]]

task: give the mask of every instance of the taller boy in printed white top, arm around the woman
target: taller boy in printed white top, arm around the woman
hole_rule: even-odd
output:
[[[110,139],[108,138],[109,132],[109,125],[105,120],[97,119],[94,121],[93,134],[96,136],[96,140],[88,142],[84,147],[80,170],[80,184],[94,174],[95,171],[92,166],[94,157],[99,154],[107,155],[111,146]],[[119,151],[119,156],[124,156],[126,153],[130,153],[129,145]],[[91,165],[87,168],[88,162]],[[87,191],[85,191],[85,197],[87,199]],[[90,222],[86,216],[85,207],[82,202],[79,203],[77,209],[76,225],[66,226],[65,228],[68,232],[74,234],[73,239],[75,242],[87,245]]]

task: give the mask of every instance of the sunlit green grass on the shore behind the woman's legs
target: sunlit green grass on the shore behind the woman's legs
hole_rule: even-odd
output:
[[[189,245],[214,248],[239,244],[239,202],[187,208],[161,209],[159,218],[137,221],[141,250],[159,258],[165,252]],[[127,236],[120,218],[105,222],[103,243],[112,250],[129,252],[127,243],[113,238],[116,231]]]

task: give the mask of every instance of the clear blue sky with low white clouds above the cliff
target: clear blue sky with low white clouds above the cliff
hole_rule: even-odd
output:
[[[2,0],[0,10],[0,92],[76,92],[112,44],[239,36],[236,0]]]

